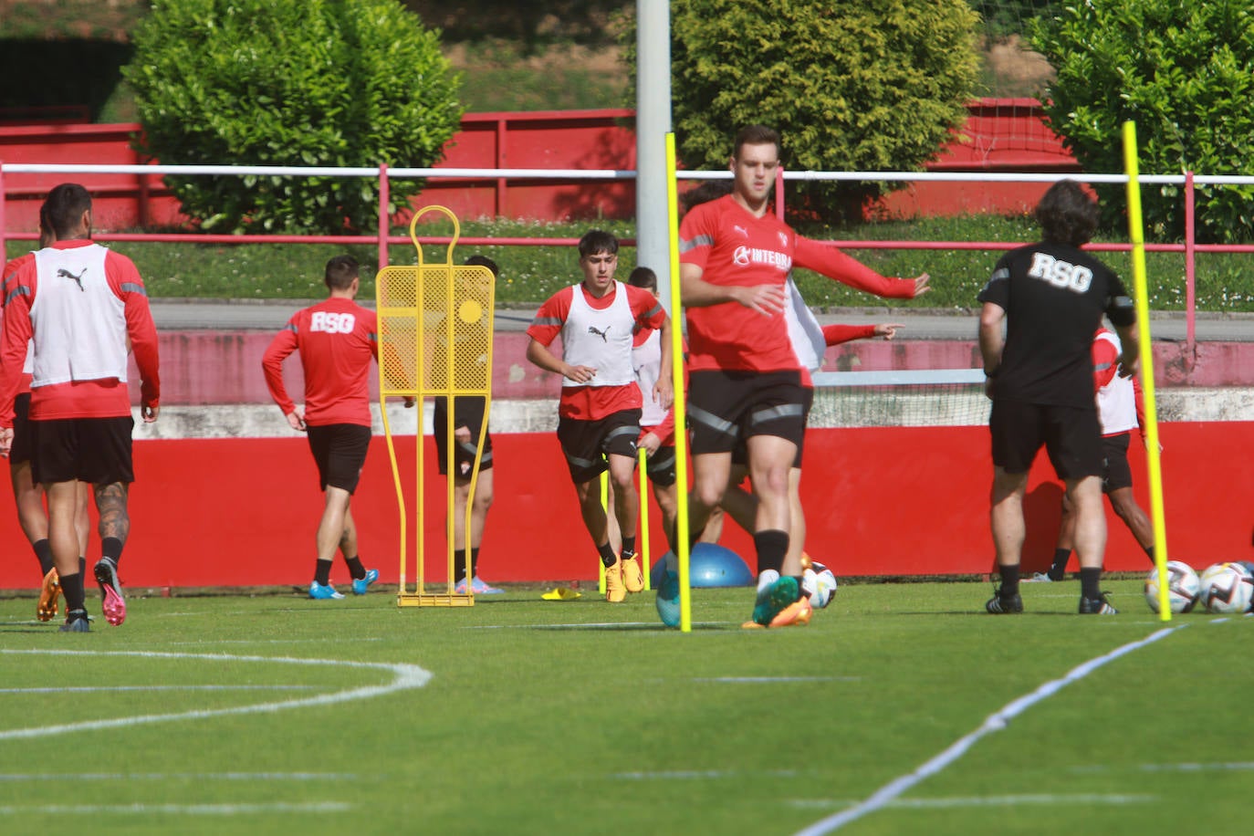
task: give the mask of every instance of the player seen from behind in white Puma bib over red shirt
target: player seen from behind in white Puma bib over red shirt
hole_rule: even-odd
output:
[[[127,604],[118,563],[130,531],[127,498],[134,481],[128,348],[139,368],[140,415],[157,420],[157,328],[134,263],[92,242],[92,196],[76,183],[48,194],[41,209],[55,242],[8,280],[0,348],[0,452],[13,444],[14,401],[33,346],[31,478],[48,501],[53,550],[66,620],[61,630],[90,632],[75,526],[79,485],[89,483],[99,511],[102,558],[93,574],[104,618],[122,624]],[[64,335],[73,333],[73,340]]]

